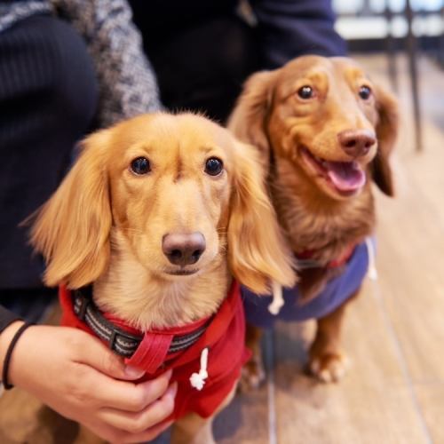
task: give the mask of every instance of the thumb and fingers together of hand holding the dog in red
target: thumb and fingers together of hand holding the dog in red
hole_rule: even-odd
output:
[[[112,442],[141,442],[154,439],[170,425],[166,419],[174,410],[177,392],[177,383],[169,387],[171,370],[134,384],[131,380],[142,377],[143,371],[125,366],[99,339],[79,330],[66,331],[68,353],[78,376],[75,381],[82,381],[68,385],[72,389],[68,393],[74,405],[90,405],[95,410],[91,427],[95,432]]]

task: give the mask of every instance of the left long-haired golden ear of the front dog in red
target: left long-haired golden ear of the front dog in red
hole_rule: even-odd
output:
[[[99,277],[109,258],[112,223],[105,153],[108,131],[83,142],[83,152],[55,194],[37,211],[31,244],[43,253],[44,282],[77,289]]]

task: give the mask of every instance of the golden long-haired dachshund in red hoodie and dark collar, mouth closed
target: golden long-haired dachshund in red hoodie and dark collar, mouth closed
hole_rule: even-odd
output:
[[[294,283],[265,179],[256,150],[216,123],[141,115],[83,142],[33,226],[62,323],[147,378],[173,369],[174,442],[213,441],[248,357],[236,281]]]

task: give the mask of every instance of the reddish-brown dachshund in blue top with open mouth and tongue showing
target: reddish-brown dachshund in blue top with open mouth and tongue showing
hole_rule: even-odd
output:
[[[247,383],[263,378],[258,329],[279,317],[317,319],[309,369],[322,381],[345,371],[340,331],[345,305],[361,287],[375,226],[371,179],[392,196],[389,155],[398,112],[392,96],[352,59],[305,56],[252,75],[228,127],[257,147],[269,191],[300,271],[279,315],[246,295],[248,342],[256,354]]]

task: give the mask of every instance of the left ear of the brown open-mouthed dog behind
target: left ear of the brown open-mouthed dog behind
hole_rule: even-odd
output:
[[[274,75],[274,71],[262,71],[250,76],[227,123],[237,139],[259,149],[262,162],[270,157],[265,125],[272,102]]]

